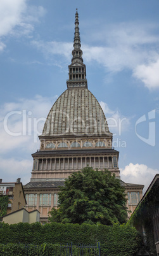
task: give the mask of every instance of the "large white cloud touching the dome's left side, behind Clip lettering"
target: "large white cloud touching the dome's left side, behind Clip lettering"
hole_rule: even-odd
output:
[[[35,96],[33,99],[18,99],[5,103],[0,108],[0,152],[27,150],[37,146],[48,112],[57,96]],[[35,144],[35,145],[34,145]]]

